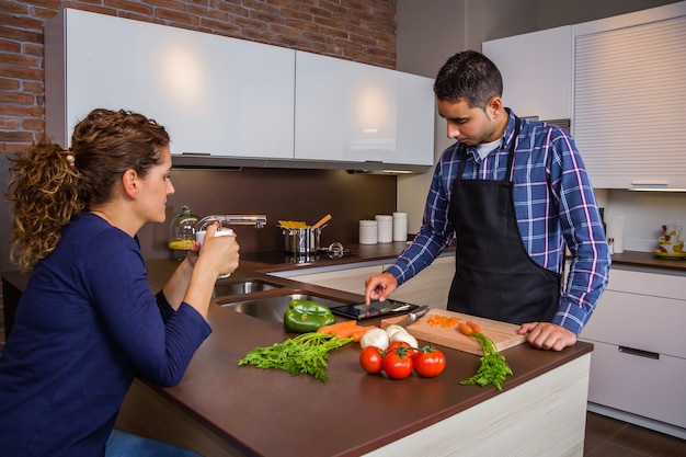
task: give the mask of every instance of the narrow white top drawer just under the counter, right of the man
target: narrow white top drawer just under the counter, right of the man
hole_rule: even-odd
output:
[[[686,276],[613,269],[607,289],[686,301]]]

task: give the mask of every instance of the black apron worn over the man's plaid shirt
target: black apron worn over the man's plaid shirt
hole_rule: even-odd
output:
[[[450,197],[457,251],[448,309],[517,324],[549,322],[561,275],[534,262],[519,235],[510,182],[519,128],[517,117],[503,181],[464,180],[467,147],[460,145]]]

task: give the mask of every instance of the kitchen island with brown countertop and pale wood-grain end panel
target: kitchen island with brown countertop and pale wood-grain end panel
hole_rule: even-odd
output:
[[[153,287],[169,266],[151,264]],[[262,275],[259,264],[242,262],[227,281],[268,277],[289,290],[361,299]],[[348,344],[331,353],[324,384],[306,375],[238,366],[250,350],[287,338],[279,323],[220,306],[210,307],[208,321],[213,334],[181,384],[159,388],[136,381],[119,427],[207,457],[583,454],[588,343],[559,353],[527,344],[504,351],[514,375],[502,392],[461,386],[478,369],[479,357],[446,347],[441,347],[446,354],[441,376],[391,380],[365,374],[357,361],[359,346]]]

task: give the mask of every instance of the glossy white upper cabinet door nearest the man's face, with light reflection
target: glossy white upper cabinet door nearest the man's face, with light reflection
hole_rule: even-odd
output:
[[[296,159],[433,164],[433,80],[296,52]]]

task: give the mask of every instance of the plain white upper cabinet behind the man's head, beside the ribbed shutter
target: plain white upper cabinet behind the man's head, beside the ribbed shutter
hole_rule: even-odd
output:
[[[572,26],[482,43],[503,76],[503,102],[519,117],[569,119],[572,113]]]

